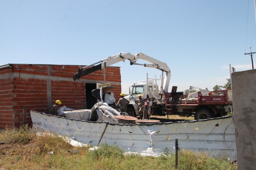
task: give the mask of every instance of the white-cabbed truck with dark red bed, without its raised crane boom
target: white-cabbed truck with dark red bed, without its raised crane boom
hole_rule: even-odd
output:
[[[148,86],[147,86],[148,84]],[[137,116],[139,107],[135,104],[138,95],[150,99],[150,113],[158,115],[182,115],[192,116],[195,120],[210,119],[213,117],[226,116],[232,107],[231,90],[209,91],[198,89],[198,91],[184,95],[177,92],[177,86],[173,86],[171,93],[165,93],[165,99],[158,98],[155,91],[157,83],[148,80],[148,83],[134,83],[130,87],[129,95],[125,96],[130,101],[127,113]]]

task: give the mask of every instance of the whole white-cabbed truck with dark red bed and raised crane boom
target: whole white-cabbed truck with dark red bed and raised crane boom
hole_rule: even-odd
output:
[[[137,63],[138,59],[147,61],[151,64],[139,64]],[[132,55],[131,53],[122,52],[107,57],[89,66],[81,67],[78,69],[78,73],[73,75],[73,80],[79,80],[82,76],[86,76],[94,71],[102,70],[105,67],[125,60],[129,60],[130,65],[152,67],[162,71],[158,93],[155,93],[155,90],[158,90],[158,86],[152,81],[132,84],[129,90],[129,95],[126,96],[130,101],[127,107],[127,113],[130,116],[138,116],[139,107],[135,103],[135,100],[138,99],[138,95],[142,95],[143,98],[150,99],[151,114],[194,115],[195,120],[225,116],[232,107],[231,90],[207,91],[207,93],[202,93],[201,90],[198,90],[196,92],[197,94],[193,95],[192,98],[191,96],[184,95],[183,92],[177,92],[177,86],[173,86],[171,93],[168,93],[171,70],[166,63],[143,53]],[[214,93],[217,95],[213,95]]]

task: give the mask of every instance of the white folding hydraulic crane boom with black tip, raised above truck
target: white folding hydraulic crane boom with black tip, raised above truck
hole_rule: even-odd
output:
[[[137,63],[138,59],[148,61],[152,64],[138,64]],[[150,56],[147,56],[143,53],[138,53],[138,54],[132,55],[131,53],[124,54],[124,52],[122,52],[119,54],[115,54],[114,56],[107,57],[106,59],[98,61],[97,63],[79,68],[78,73],[73,75],[73,80],[74,81],[79,80],[80,77],[82,77],[82,76],[93,73],[94,71],[97,71],[97,70],[104,69],[105,67],[111,66],[115,63],[118,63],[119,61],[125,61],[125,60],[129,60],[130,65],[141,65],[144,67],[152,67],[152,68],[161,70],[162,76],[161,76],[161,80],[160,80],[161,86],[160,86],[159,94],[164,95],[165,93],[168,92],[168,86],[169,86],[170,78],[171,78],[171,70],[169,69],[169,67],[167,66],[166,63],[159,61],[157,59],[154,59]],[[98,65],[94,66],[95,64],[98,64]],[[94,67],[91,67],[91,66],[94,66]],[[83,69],[86,69],[86,70],[83,70]],[[165,79],[163,81],[164,72],[165,72]]]

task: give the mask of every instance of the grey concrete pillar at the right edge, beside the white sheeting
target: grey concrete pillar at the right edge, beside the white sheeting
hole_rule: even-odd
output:
[[[237,167],[256,167],[256,70],[233,72],[232,94]]]

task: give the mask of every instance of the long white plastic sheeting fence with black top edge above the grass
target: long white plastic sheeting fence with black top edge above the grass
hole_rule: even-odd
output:
[[[84,144],[96,146],[106,122],[72,120],[30,111],[33,127],[51,130]],[[125,151],[159,154],[172,150],[175,139],[181,149],[204,151],[236,160],[233,117],[175,123],[114,124],[109,123],[101,143],[116,144]],[[174,151],[174,150],[173,150]]]

